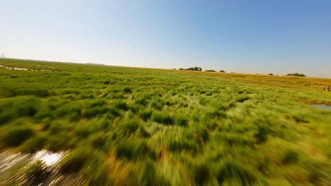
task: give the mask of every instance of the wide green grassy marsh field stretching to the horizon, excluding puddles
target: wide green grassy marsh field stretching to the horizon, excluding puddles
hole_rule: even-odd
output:
[[[331,105],[330,79],[0,66],[0,157],[65,154],[7,165],[0,185],[331,184],[331,111],[310,106]]]

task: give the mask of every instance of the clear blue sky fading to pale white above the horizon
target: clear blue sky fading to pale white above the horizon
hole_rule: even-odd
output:
[[[0,54],[331,77],[329,0],[0,0]]]

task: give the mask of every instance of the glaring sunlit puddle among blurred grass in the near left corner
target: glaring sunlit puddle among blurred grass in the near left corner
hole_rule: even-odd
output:
[[[86,185],[79,175],[59,172],[59,161],[66,154],[47,150],[35,154],[0,153],[0,185]]]

